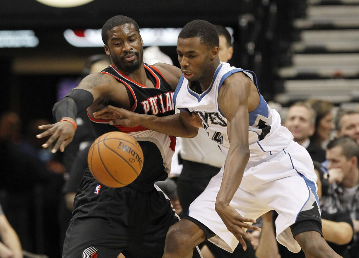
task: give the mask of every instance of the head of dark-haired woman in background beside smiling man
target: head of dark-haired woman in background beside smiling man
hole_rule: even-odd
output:
[[[327,143],[330,140],[330,134],[334,130],[332,109],[334,105],[326,100],[312,99],[307,103],[314,109],[317,114],[315,122],[315,132],[310,140],[317,146],[327,149]]]

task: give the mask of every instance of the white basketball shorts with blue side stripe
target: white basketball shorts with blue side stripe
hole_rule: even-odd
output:
[[[204,192],[192,202],[188,216],[200,221],[216,234],[209,241],[233,252],[239,241],[228,231],[214,207],[222,177],[223,167],[210,180]],[[314,202],[319,207],[316,181],[317,175],[307,150],[297,142],[292,142],[275,157],[269,156],[262,163],[246,168],[230,206],[241,216],[250,219],[257,219],[270,210],[278,212],[275,221],[277,240],[297,253],[300,246],[294,240],[289,226],[297,221],[300,211],[309,210]]]

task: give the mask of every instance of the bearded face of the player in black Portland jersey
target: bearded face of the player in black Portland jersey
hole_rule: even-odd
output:
[[[105,52],[121,71],[134,72],[143,64],[143,41],[133,24],[123,24],[108,32]]]

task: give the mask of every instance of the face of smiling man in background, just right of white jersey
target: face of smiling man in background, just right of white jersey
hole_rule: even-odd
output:
[[[303,106],[293,106],[289,108],[285,118],[284,126],[294,136],[294,141],[302,143],[314,133],[314,125],[311,122],[311,112]]]

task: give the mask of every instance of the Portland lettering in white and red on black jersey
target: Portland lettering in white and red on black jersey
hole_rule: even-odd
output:
[[[174,109],[173,104],[173,92],[166,92],[154,97],[149,97],[141,102],[143,106],[144,114],[148,114],[149,111],[153,115],[158,113],[165,113]]]

